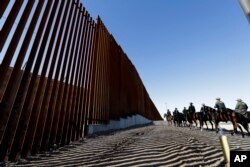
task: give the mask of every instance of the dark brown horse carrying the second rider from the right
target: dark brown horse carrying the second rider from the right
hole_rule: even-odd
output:
[[[238,127],[241,131],[242,137],[244,137],[244,132],[238,122],[238,120],[240,120],[239,113],[236,113],[234,112],[234,110],[231,110],[229,108],[225,109],[223,112],[217,113],[217,111],[214,108],[209,107],[209,106],[206,106],[204,110],[209,115],[212,115],[212,118],[215,122],[216,133],[219,132],[219,128],[218,128],[219,122],[231,121],[233,124],[233,131],[231,132],[231,134],[233,135],[234,133],[237,133],[237,127]]]

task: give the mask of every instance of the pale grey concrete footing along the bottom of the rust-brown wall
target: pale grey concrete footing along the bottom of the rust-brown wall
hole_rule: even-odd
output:
[[[127,118],[121,118],[120,120],[110,120],[108,124],[96,124],[88,126],[88,135],[96,133],[109,132],[114,130],[126,129],[133,126],[140,126],[152,123],[151,120],[141,116],[133,115]]]

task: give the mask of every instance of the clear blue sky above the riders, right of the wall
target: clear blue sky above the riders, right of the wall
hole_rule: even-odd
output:
[[[250,108],[250,24],[238,0],[82,0],[122,46],[161,115],[193,102]]]

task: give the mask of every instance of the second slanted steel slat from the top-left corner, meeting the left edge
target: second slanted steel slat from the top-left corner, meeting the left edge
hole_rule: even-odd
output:
[[[24,2],[24,0],[15,1],[9,16],[7,17],[5,24],[3,25],[3,28],[0,31],[0,51],[2,51],[2,49],[3,49],[4,43],[6,42],[6,39],[10,33],[10,30],[11,30],[11,28],[14,24],[14,21],[15,21],[17,15],[21,9],[23,2]],[[0,74],[2,74],[1,68],[0,68]]]

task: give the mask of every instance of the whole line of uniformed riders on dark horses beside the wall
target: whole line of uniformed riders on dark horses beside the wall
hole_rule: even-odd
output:
[[[248,123],[250,123],[250,112],[247,111],[248,106],[241,99],[237,99],[237,104],[235,110],[230,108],[226,108],[225,103],[221,101],[220,98],[216,98],[216,103],[214,108],[206,106],[202,104],[202,107],[199,112],[196,112],[193,103],[190,103],[188,109],[184,107],[183,113],[179,112],[177,108],[175,108],[173,112],[173,116],[171,112],[168,110],[166,114],[164,114],[164,118],[167,119],[169,125],[172,125],[174,122],[175,126],[187,126],[187,122],[189,126],[195,125],[197,126],[197,121],[200,123],[200,129],[203,129],[203,123],[207,126],[207,121],[212,125],[212,130],[214,129],[213,122],[215,124],[216,133],[218,133],[219,122],[228,122],[231,121],[233,124],[233,131],[231,134],[237,133],[237,127],[240,129],[242,137],[244,137],[244,132],[242,130],[242,125],[244,129],[247,131],[250,136]]]

